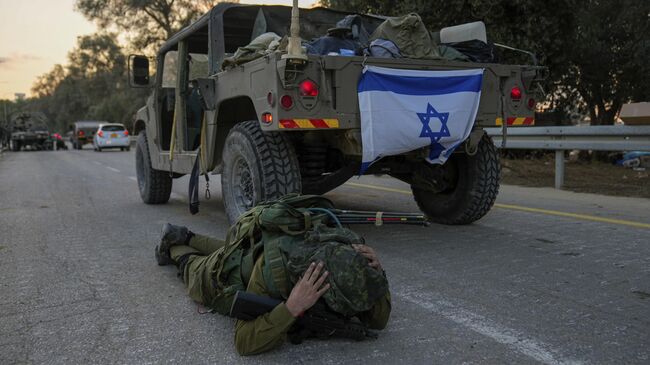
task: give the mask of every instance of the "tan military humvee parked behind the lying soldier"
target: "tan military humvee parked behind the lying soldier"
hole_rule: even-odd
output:
[[[291,13],[285,6],[219,4],[160,48],[153,93],[134,123],[142,200],[167,202],[173,178],[191,172],[200,145],[204,172],[221,172],[230,221],[260,201],[287,193],[325,193],[359,172],[357,83],[364,65],[484,68],[473,132],[444,165],[423,162],[426,151],[421,149],[385,157],[365,172],[409,183],[432,221],[467,224],[484,216],[497,196],[500,165],[482,128],[503,124],[505,133],[510,121],[532,119],[530,100],[539,68],[339,55],[296,60],[280,51],[222,68],[225,58],[258,35],[288,35]],[[326,8],[300,9],[300,36],[324,35],[346,15]],[[362,19],[369,32],[385,20]],[[132,85],[150,84],[146,57],[132,56],[130,68]],[[307,86],[309,93],[304,92]]]

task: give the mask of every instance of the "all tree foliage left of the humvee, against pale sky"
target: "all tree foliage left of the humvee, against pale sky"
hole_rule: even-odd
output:
[[[121,122],[128,127],[149,91],[128,87],[127,57],[117,34],[125,36],[122,39],[127,41],[126,49],[151,53],[217,2],[77,0],[76,9],[95,21],[100,31],[79,37],[65,65],[55,65],[39,76],[33,83],[31,99],[1,102],[9,113],[44,112],[53,131],[66,131],[72,123],[84,119]]]

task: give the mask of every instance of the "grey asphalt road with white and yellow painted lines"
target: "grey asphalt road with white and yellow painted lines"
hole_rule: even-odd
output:
[[[89,146],[86,146],[89,148]],[[224,236],[219,177],[141,202],[133,152],[0,157],[0,364],[650,362],[650,201],[504,186],[461,227],[358,227],[390,280],[377,340],[241,358],[234,321],[200,314],[153,249],[165,222]],[[354,179],[343,208],[417,211],[404,184]]]

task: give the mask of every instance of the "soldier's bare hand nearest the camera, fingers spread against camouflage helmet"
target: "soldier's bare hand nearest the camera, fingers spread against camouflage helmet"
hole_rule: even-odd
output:
[[[322,269],[322,262],[318,263],[318,265],[312,262],[302,278],[298,280],[296,286],[291,289],[286,306],[292,316],[298,317],[311,308],[316,304],[318,298],[322,297],[329,289],[330,285],[325,284],[329,272],[324,271],[321,274]]]

